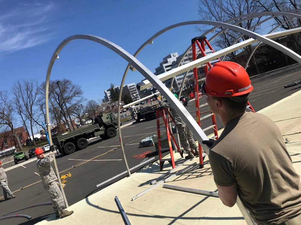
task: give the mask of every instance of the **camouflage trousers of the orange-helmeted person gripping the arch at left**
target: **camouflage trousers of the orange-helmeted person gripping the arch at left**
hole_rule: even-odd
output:
[[[65,208],[63,194],[56,181],[46,184],[44,188],[51,198],[52,207],[55,211]]]

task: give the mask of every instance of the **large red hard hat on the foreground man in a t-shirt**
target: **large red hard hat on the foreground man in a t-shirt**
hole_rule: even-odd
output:
[[[230,61],[215,63],[206,75],[203,88],[206,95],[217,97],[239,96],[253,90],[244,67]]]

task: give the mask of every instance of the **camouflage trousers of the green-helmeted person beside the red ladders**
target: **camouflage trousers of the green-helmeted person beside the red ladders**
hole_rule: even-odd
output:
[[[178,124],[177,129],[178,129],[178,134],[179,134],[179,138],[180,138],[180,143],[186,152],[190,152],[191,149],[193,149],[193,150],[198,149],[198,147],[195,144],[195,141],[193,139],[193,135],[192,135],[191,131],[185,124]],[[191,147],[191,149],[190,149],[190,147]]]

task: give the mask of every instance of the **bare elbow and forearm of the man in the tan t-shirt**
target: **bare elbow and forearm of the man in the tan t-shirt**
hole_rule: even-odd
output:
[[[237,190],[236,183],[229,187],[224,187],[216,184],[217,190],[219,190],[219,199],[225,206],[232,207],[236,203]]]

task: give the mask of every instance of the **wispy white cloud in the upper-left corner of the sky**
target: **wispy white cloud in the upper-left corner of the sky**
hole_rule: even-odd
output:
[[[0,16],[0,53],[31,48],[50,40],[54,4],[23,4]]]

